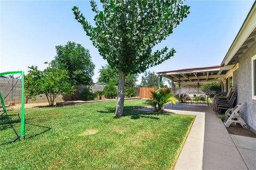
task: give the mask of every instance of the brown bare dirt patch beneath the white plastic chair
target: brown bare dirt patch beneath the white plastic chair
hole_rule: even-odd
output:
[[[256,138],[256,134],[249,130],[245,130],[240,124],[231,124],[228,128],[228,133],[229,134],[236,134],[236,135],[241,135],[244,137],[251,137],[251,138]]]

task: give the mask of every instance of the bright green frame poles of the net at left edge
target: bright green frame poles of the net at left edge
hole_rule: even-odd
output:
[[[20,116],[20,137],[25,137],[25,105],[24,105],[24,72],[23,71],[11,71],[11,72],[3,72],[1,75],[7,74],[21,74],[21,116]],[[0,99],[3,107],[3,112],[7,114],[4,101],[0,91]]]

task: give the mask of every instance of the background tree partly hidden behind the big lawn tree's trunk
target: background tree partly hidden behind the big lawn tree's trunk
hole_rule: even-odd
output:
[[[98,82],[103,83],[114,83],[118,85],[118,70],[112,69],[110,65],[106,64],[105,66],[101,66],[99,71],[100,75],[98,78]],[[134,87],[135,82],[137,81],[138,74],[127,74],[125,77],[125,87]]]

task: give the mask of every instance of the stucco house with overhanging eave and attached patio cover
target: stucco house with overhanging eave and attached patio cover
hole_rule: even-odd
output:
[[[256,2],[220,65],[157,74],[179,82],[181,89],[187,84],[207,81],[220,82],[223,92],[234,86],[238,94],[236,102],[244,103],[244,120],[256,131]]]

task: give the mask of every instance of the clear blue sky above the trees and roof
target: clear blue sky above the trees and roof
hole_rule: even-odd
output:
[[[185,4],[190,6],[188,17],[154,47],[156,50],[167,46],[176,53],[149,71],[221,64],[253,1],[185,1]],[[22,70],[26,74],[31,65],[43,70],[47,67],[44,62],[53,60],[55,46],[74,41],[90,50],[95,64],[93,81],[97,82],[99,69],[107,62],[75,20],[73,6],[78,6],[93,24],[94,13],[89,1],[0,0],[0,72]]]

